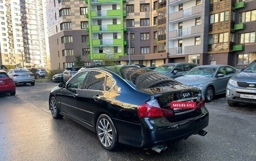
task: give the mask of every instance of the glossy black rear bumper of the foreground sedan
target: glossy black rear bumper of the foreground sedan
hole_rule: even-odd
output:
[[[169,122],[165,117],[143,118],[140,126],[127,125],[118,130],[118,134],[121,134],[118,135],[121,136],[118,141],[140,148],[152,148],[155,145],[187,139],[208,126],[209,113],[204,109],[205,114],[181,122]]]

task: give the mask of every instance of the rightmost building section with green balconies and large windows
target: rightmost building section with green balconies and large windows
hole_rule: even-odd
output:
[[[256,1],[235,1],[235,40],[231,64],[246,66],[256,59]]]

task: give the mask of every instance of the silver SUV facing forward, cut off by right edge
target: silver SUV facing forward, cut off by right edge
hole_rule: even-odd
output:
[[[226,98],[230,106],[239,103],[256,104],[256,59],[245,70],[231,77],[227,84]]]

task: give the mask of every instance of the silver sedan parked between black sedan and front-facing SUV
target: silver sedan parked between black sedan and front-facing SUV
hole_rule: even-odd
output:
[[[175,80],[202,90],[205,102],[211,102],[215,95],[226,93],[228,80],[239,73],[227,65],[203,65],[192,68]]]

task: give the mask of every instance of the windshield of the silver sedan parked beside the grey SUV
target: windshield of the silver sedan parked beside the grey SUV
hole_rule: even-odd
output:
[[[216,67],[195,67],[185,73],[184,76],[212,77],[216,70]]]

